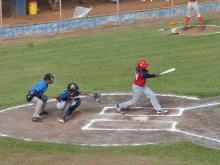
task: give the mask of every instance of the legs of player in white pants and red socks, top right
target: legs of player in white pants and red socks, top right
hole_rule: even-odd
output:
[[[199,30],[201,32],[204,31],[205,27],[203,24],[202,16],[200,15],[200,12],[199,12],[197,0],[188,0],[188,4],[187,4],[187,8],[186,8],[185,27],[183,28],[183,30],[184,31],[188,30],[189,20],[193,14],[196,15],[198,22],[200,24]]]

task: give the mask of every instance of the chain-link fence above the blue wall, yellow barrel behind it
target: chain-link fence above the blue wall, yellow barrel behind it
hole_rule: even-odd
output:
[[[199,3],[217,1],[220,0],[199,0]],[[0,26],[70,19],[81,9],[79,6],[90,9],[83,16],[92,17],[186,4],[187,0],[0,0]]]

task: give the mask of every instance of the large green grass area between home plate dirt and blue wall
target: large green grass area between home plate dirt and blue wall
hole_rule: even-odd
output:
[[[25,102],[44,73],[56,75],[56,96],[74,81],[82,91],[130,91],[139,59],[153,72],[175,73],[149,81],[156,92],[209,97],[219,95],[220,35],[167,36],[155,27],[130,27],[57,40],[0,48],[0,108]]]

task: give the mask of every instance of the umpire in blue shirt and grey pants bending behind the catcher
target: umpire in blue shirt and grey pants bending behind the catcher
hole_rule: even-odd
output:
[[[33,122],[42,122],[41,115],[48,115],[45,111],[48,97],[44,95],[48,88],[48,84],[54,84],[55,76],[51,73],[45,74],[44,79],[36,83],[34,87],[26,95],[28,102],[35,104],[35,110],[33,113]]]

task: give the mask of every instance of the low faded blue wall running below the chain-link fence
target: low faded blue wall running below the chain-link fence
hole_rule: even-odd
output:
[[[220,3],[200,4],[201,13],[206,11],[220,10]],[[132,13],[123,13],[119,15],[99,16],[82,19],[69,19],[45,24],[23,25],[14,27],[5,27],[0,29],[0,38],[24,37],[27,35],[39,35],[70,31],[73,29],[88,29],[105,24],[127,24],[141,19],[164,18],[164,17],[184,17],[186,6],[166,9],[145,10]]]

